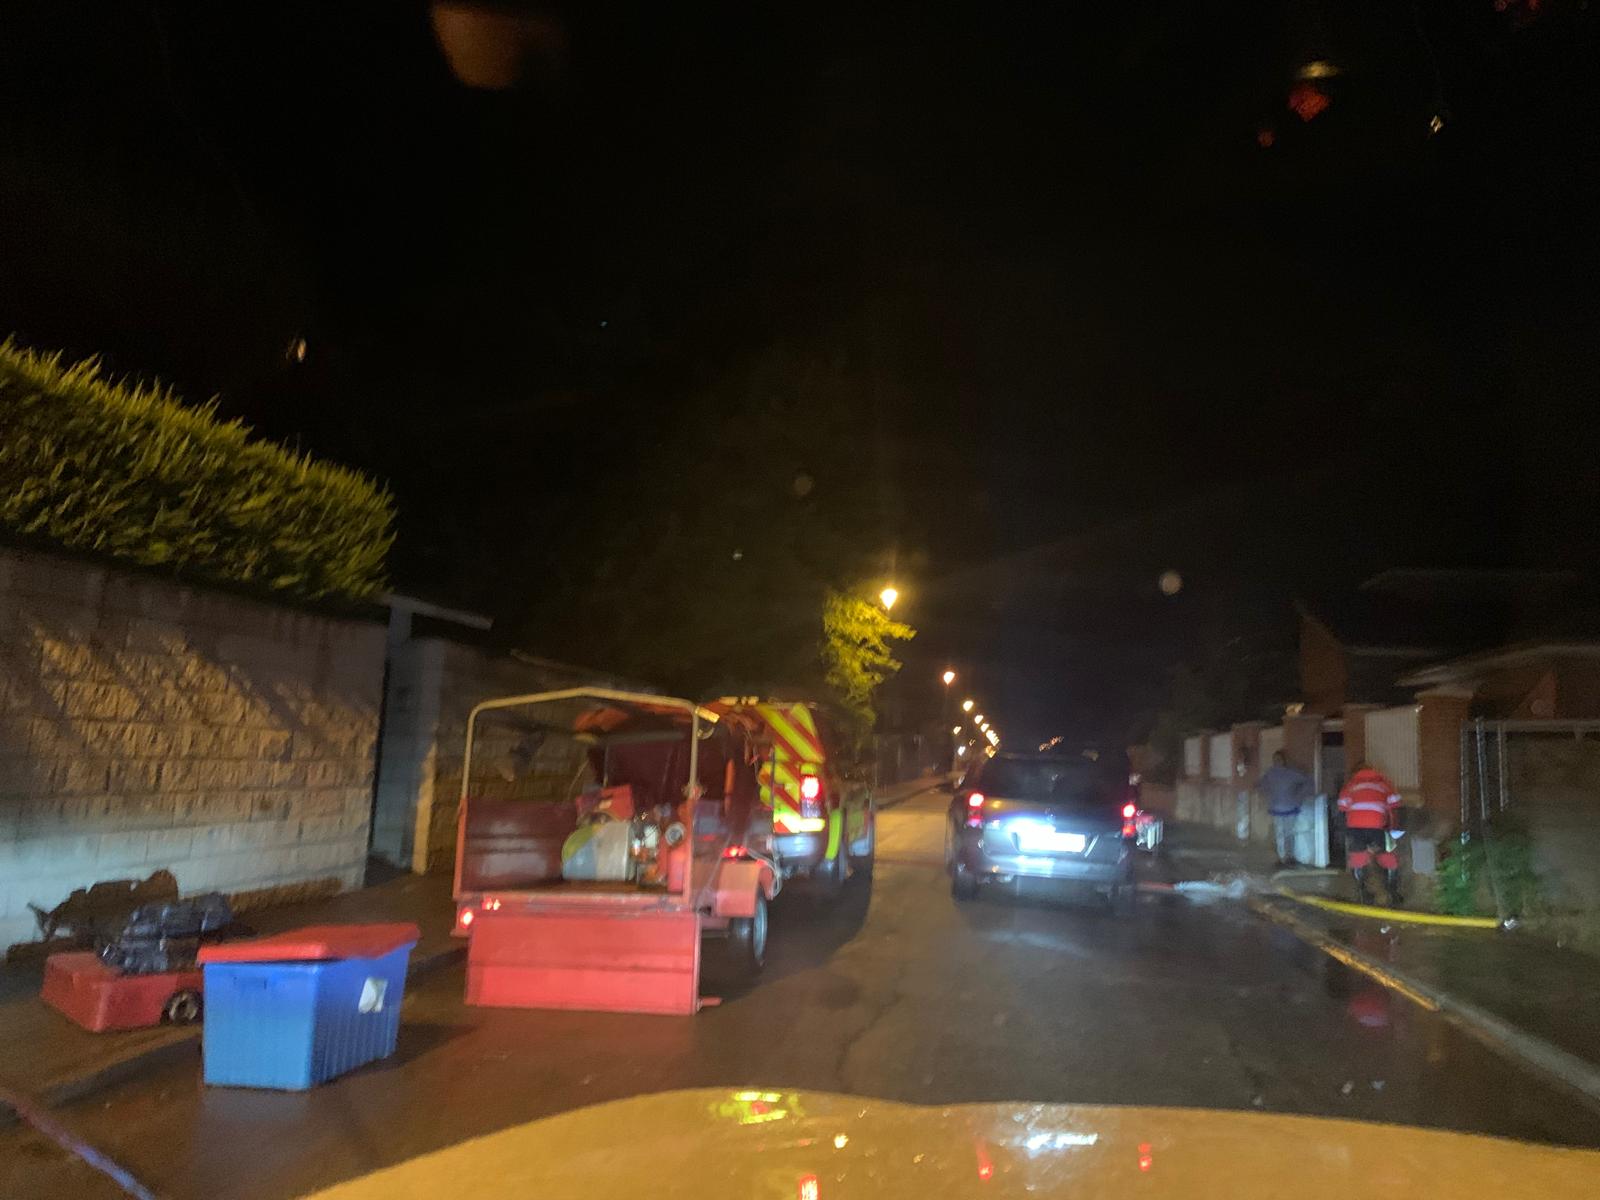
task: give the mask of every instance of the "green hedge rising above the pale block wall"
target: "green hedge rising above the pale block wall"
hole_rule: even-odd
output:
[[[214,406],[0,342],[0,526],[307,600],[384,589],[394,499]]]

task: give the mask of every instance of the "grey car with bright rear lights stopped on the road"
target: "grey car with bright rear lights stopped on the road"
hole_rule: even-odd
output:
[[[1000,754],[957,787],[946,870],[958,901],[1019,878],[1069,880],[1131,912],[1138,805],[1128,773],[1082,755]]]

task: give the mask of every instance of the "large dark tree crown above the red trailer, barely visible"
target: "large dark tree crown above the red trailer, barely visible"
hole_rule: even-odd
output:
[[[694,389],[640,453],[602,448],[522,640],[693,694],[821,690],[830,589],[893,536],[880,421],[843,355],[773,347]]]

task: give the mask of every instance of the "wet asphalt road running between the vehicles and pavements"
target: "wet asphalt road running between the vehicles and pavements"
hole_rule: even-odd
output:
[[[693,1019],[469,1010],[418,981],[398,1054],[309,1094],[206,1090],[198,1056],[66,1110],[173,1198],[291,1197],[597,1101],[686,1086],[1354,1117],[1600,1146],[1600,1115],[1237,904],[957,906],[947,794],[885,813],[878,872],[781,901],[760,984]],[[1154,864],[1152,864],[1154,867]],[[0,1131],[0,1195],[114,1195]]]

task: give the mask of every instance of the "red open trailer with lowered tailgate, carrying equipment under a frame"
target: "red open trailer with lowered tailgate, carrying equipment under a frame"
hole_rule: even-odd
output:
[[[456,933],[467,1003],[694,1013],[702,949],[766,955],[781,874],[758,850],[755,722],[603,688],[467,717]]]

